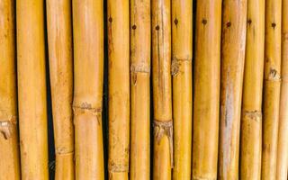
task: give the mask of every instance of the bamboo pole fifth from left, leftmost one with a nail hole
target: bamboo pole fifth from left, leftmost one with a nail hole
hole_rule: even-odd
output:
[[[108,0],[109,179],[128,179],[130,152],[129,1]]]

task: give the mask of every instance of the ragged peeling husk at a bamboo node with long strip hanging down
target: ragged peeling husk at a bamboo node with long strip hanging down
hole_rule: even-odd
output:
[[[164,135],[169,140],[169,147],[170,147],[170,161],[171,167],[174,166],[174,158],[173,158],[173,121],[157,121],[154,119],[153,122],[154,127],[154,136],[157,139],[157,143],[160,143],[160,140],[163,138]]]

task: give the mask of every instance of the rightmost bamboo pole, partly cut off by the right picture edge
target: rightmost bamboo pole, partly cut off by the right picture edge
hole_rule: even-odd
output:
[[[276,179],[288,179],[288,0],[282,1],[282,86]]]

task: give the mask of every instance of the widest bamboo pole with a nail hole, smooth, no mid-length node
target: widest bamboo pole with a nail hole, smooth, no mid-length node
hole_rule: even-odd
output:
[[[221,0],[199,1],[196,11],[193,179],[217,179]]]

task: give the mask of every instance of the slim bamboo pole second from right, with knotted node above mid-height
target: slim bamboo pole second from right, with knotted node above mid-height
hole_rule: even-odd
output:
[[[264,124],[261,178],[276,177],[281,89],[281,0],[266,0]]]

